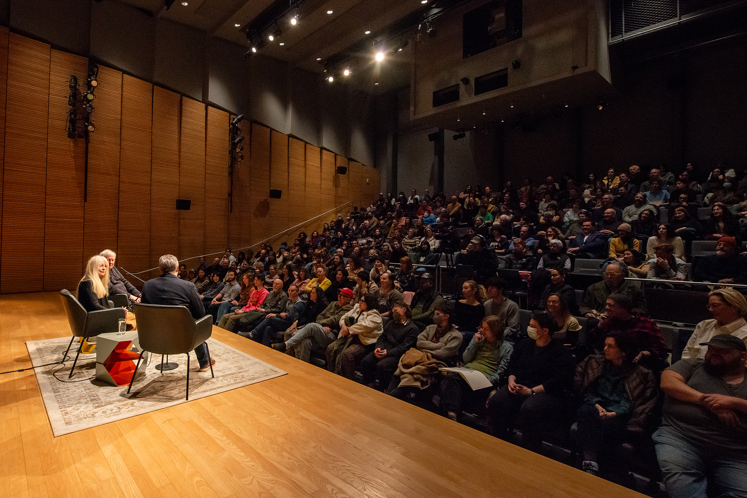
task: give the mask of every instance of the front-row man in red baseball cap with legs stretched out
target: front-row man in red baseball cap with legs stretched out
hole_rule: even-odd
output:
[[[309,363],[311,351],[326,352],[326,346],[337,339],[337,334],[340,332],[340,319],[353,309],[353,305],[350,304],[351,299],[353,299],[352,290],[340,289],[337,301],[329,303],[329,306],[319,314],[316,322],[306,324],[303,329],[285,342],[273,344],[273,349],[280,352],[289,352],[293,349],[297,358]]]

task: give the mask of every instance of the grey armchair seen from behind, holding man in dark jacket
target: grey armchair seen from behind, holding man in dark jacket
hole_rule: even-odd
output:
[[[143,352],[154,355],[187,355],[187,400],[189,399],[190,351],[204,343],[213,333],[213,316],[205,315],[195,320],[184,306],[132,305],[137,319],[137,340],[140,343],[140,358],[132,373],[127,392],[130,392]],[[207,346],[207,344],[205,344]],[[210,349],[208,349],[208,358]],[[213,366],[210,373],[214,377]]]

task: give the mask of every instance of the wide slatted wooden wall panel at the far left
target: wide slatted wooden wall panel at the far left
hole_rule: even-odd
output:
[[[10,34],[7,56],[0,292],[43,289],[50,49]],[[50,243],[60,243],[51,240]]]

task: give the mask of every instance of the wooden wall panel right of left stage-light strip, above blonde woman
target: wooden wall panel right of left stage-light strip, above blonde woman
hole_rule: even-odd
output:
[[[85,78],[78,77],[78,82]],[[128,212],[137,207],[132,198],[120,199],[120,140],[122,138],[122,73],[108,67],[99,66],[99,86],[93,99],[93,122],[96,131],[90,134],[88,143],[87,202],[84,205],[83,224],[83,264],[91,255],[104,249],[117,251],[117,266],[128,268],[131,260],[131,241],[121,257],[119,254],[120,211],[131,222]],[[137,181],[126,178],[127,182]],[[131,190],[134,192],[134,190]],[[137,197],[139,200],[139,195]],[[120,208],[120,200],[122,205]],[[146,208],[148,206],[146,205]],[[137,249],[141,252],[143,249]],[[145,248],[146,253],[148,247]],[[142,260],[147,264],[147,257]],[[130,265],[131,266],[131,265]],[[143,268],[145,270],[145,268]]]

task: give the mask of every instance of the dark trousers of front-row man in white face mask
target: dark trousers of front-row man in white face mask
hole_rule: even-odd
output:
[[[524,446],[539,452],[542,429],[557,423],[564,414],[563,402],[548,393],[531,396],[512,394],[507,385],[501,387],[488,402],[490,423],[497,438],[505,440],[509,429],[518,423]]]

